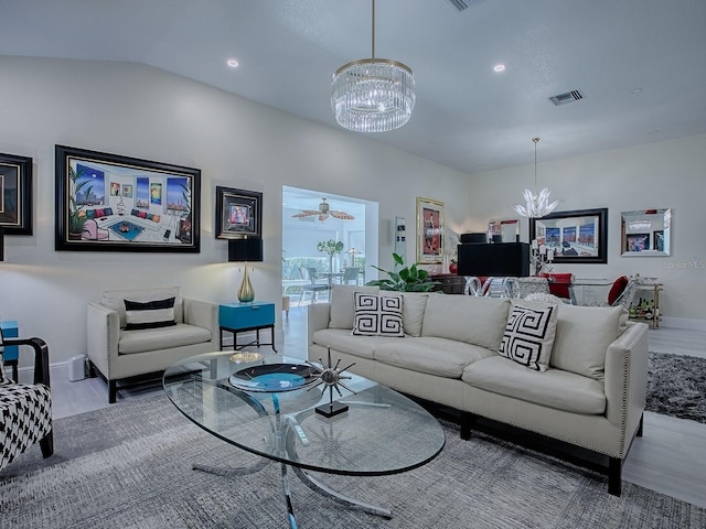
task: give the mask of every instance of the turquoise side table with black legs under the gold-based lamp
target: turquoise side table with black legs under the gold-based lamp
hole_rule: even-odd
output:
[[[223,332],[233,333],[233,350],[239,350],[248,345],[269,345],[275,353],[275,303],[254,301],[252,303],[225,303],[218,305],[218,346],[223,350]],[[260,330],[269,328],[270,343],[260,342]],[[256,339],[238,345],[238,333],[255,331]]]

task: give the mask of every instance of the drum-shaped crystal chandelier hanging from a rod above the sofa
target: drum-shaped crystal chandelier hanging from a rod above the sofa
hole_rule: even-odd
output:
[[[386,132],[409,121],[415,108],[415,78],[409,66],[375,58],[375,0],[373,53],[344,64],[331,82],[331,108],[335,120],[356,132]]]

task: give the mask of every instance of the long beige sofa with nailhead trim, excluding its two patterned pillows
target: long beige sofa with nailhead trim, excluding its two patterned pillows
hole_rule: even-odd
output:
[[[309,305],[311,360],[331,348],[333,359],[355,363],[353,373],[460,410],[464,439],[481,415],[608,456],[609,493],[620,495],[622,461],[642,432],[645,324],[629,322],[622,307],[405,293],[404,337],[359,336],[355,291],[376,289],[335,285],[331,303]],[[509,316],[523,306],[556,311],[546,371],[498,353]]]

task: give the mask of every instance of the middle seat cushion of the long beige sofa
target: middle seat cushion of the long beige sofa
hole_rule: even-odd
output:
[[[378,342],[373,354],[381,364],[457,379],[469,364],[496,356],[485,347],[437,337]]]

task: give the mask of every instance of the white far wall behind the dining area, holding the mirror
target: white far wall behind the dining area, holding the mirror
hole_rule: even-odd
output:
[[[608,263],[556,264],[555,271],[581,278],[657,277],[664,283],[664,323],[706,328],[705,168],[705,134],[539,162],[537,186],[549,186],[552,199],[561,199],[557,210],[608,207]],[[473,174],[469,225],[483,231],[489,219],[517,218],[512,205],[533,183],[533,164]],[[660,207],[673,209],[672,255],[621,257],[620,213]],[[520,233],[527,241],[526,218]]]

